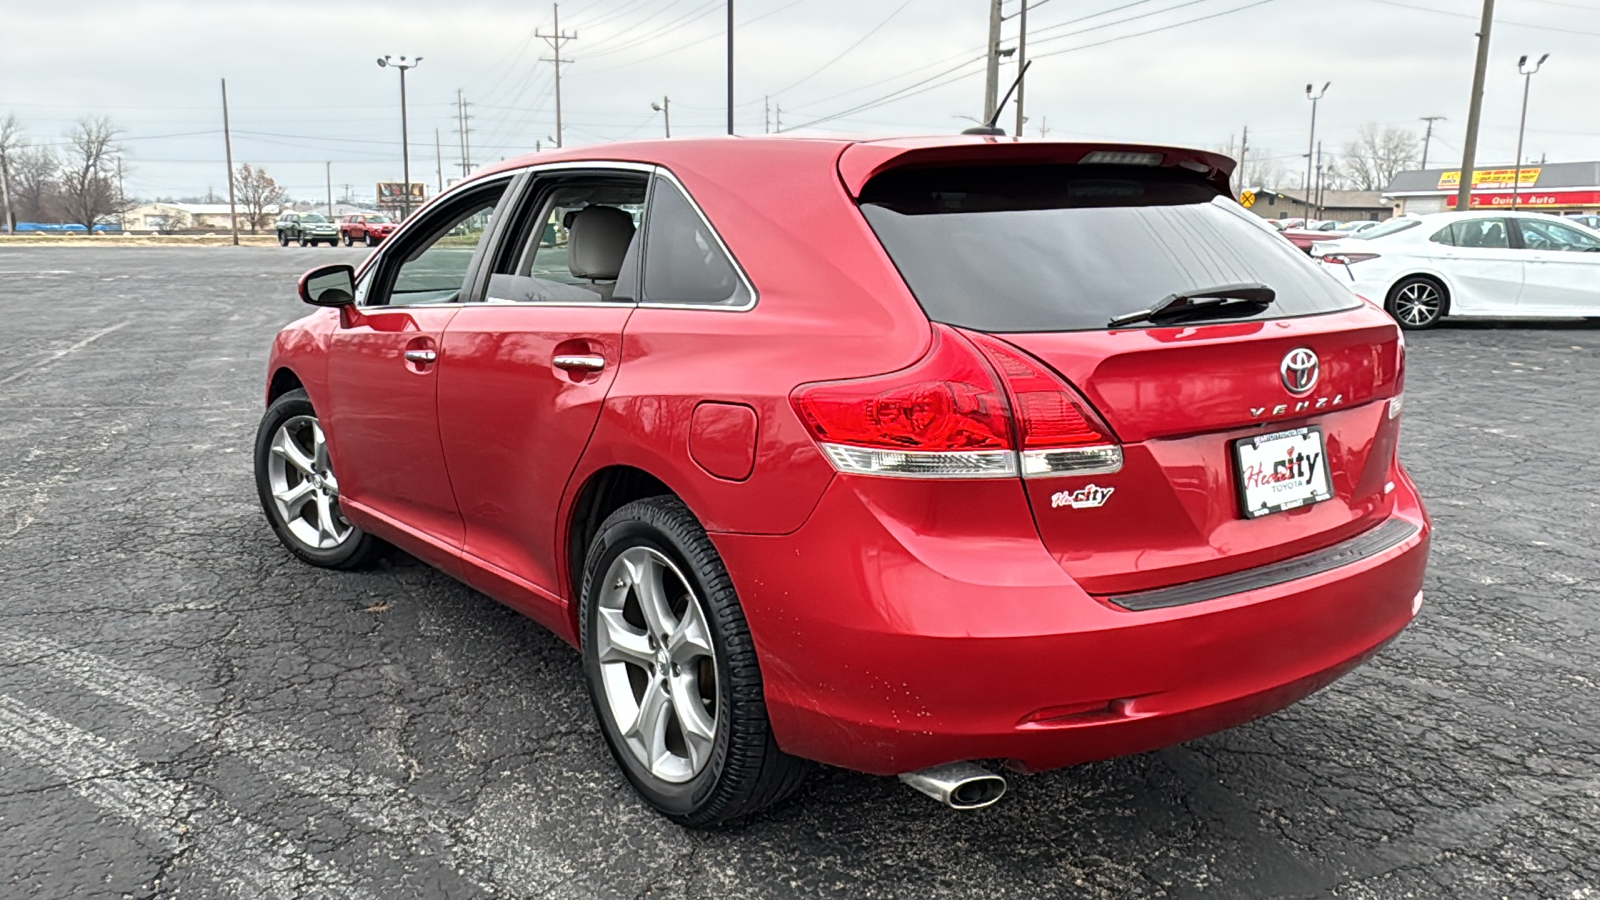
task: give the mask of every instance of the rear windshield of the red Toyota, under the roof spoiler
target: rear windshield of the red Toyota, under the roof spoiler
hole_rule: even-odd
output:
[[[861,211],[936,322],[981,331],[1104,330],[1195,288],[1259,282],[1256,315],[1360,304],[1259,218],[1187,171],[1014,165],[909,168]]]

